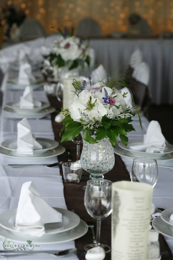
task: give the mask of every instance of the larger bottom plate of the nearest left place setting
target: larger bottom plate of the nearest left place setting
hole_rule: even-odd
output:
[[[7,230],[3,227],[0,227],[0,237],[7,237],[8,239],[15,242],[26,243],[27,240],[31,240],[37,244],[58,244],[63,242],[72,241],[79,237],[82,237],[88,231],[88,225],[80,220],[80,223],[75,228],[72,228],[69,231],[62,233],[52,234],[52,235],[43,235],[42,237],[31,237],[29,235],[20,235],[19,233],[11,233],[10,230]]]

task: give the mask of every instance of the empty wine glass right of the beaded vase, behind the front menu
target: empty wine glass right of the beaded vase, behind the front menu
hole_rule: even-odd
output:
[[[131,181],[145,182],[155,187],[158,177],[157,161],[153,158],[135,158],[131,167]]]

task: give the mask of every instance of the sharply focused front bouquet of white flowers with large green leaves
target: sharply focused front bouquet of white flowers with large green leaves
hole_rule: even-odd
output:
[[[108,137],[113,147],[120,137],[122,143],[127,145],[127,132],[135,130],[130,124],[135,113],[125,102],[127,93],[121,93],[117,83],[125,87],[127,85],[108,76],[94,85],[91,80],[89,77],[89,84],[84,80],[82,86],[73,80],[74,101],[69,109],[61,111],[65,117],[62,121],[64,126],[61,132],[65,131],[61,142],[71,141],[83,129],[83,139],[90,144]]]

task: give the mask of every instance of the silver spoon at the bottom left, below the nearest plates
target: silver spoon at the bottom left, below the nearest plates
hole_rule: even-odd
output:
[[[18,256],[21,256],[21,255],[33,255],[33,254],[40,254],[40,253],[48,253],[48,254],[50,254],[50,255],[52,255],[52,256],[56,256],[56,257],[64,257],[64,256],[66,256],[66,255],[68,255],[68,254],[72,254],[72,253],[75,253],[77,251],[77,248],[71,248],[71,249],[66,249],[66,250],[63,250],[63,251],[59,251],[59,252],[56,252],[56,251],[54,251],[55,253],[51,253],[51,252],[49,252],[49,251],[30,251],[30,252],[21,252],[21,253],[18,253],[18,252],[16,252],[16,253],[14,253],[14,251],[13,251],[13,254],[12,253],[10,253],[9,251],[5,251],[4,252],[4,250],[3,251],[0,251],[0,255],[1,255],[1,257],[3,257],[3,256],[7,256],[7,257],[18,257]],[[1,253],[2,252],[2,253]]]

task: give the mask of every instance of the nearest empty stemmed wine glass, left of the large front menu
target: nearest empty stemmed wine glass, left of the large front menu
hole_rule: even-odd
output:
[[[95,246],[100,246],[104,248],[106,253],[110,252],[109,246],[100,244],[100,228],[101,220],[108,217],[112,212],[111,187],[112,182],[110,180],[93,179],[87,181],[84,195],[84,205],[88,214],[93,219],[97,220],[97,243],[86,245],[84,247],[86,251]]]

